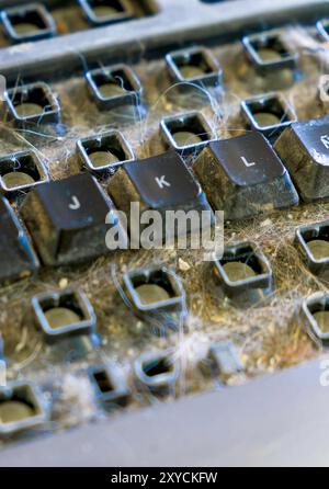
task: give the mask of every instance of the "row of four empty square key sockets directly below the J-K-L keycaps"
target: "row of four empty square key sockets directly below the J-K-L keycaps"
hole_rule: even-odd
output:
[[[296,231],[296,251],[299,250],[306,266],[321,280],[328,277],[329,271],[328,226],[326,221]],[[315,235],[316,230],[327,235]],[[215,258],[209,266],[212,270],[207,273],[212,273],[218,286],[218,297],[228,299],[234,307],[264,306],[275,289],[270,261],[253,242],[226,246],[223,257]],[[120,294],[134,316],[147,323],[155,334],[163,336],[182,328],[188,310],[186,293],[180,277],[167,266],[125,272]],[[38,294],[32,298],[32,309],[35,325],[48,343],[95,333],[95,314],[79,289],[70,287]]]

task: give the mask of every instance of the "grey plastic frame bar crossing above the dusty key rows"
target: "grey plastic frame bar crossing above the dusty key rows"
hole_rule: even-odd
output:
[[[1,73],[15,79],[18,73],[35,76],[81,68],[88,61],[116,59],[134,53],[156,52],[163,46],[212,37],[237,35],[241,31],[270,27],[294,20],[311,22],[329,11],[324,0],[230,0],[203,3],[201,0],[154,0],[156,15],[118,23],[82,33],[31,43],[24,49],[8,47],[0,52]],[[23,3],[23,0],[20,0]],[[9,3],[1,1],[0,8]],[[67,71],[66,71],[67,72]]]

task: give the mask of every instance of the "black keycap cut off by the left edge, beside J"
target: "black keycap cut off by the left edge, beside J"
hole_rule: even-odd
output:
[[[38,261],[5,198],[0,198],[0,283],[31,275]]]

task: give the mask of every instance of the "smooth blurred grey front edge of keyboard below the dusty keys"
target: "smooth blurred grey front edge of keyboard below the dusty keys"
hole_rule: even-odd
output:
[[[328,466],[320,362],[1,453],[0,467]],[[33,460],[33,462],[32,462]]]

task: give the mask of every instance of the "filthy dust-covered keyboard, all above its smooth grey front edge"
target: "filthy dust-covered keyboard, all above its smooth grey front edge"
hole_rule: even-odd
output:
[[[0,444],[317,359],[327,2],[0,7]],[[132,203],[224,212],[223,253],[134,249]]]

